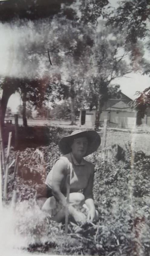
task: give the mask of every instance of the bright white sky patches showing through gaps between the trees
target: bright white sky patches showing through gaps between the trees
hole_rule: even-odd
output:
[[[113,7],[117,6],[116,0],[109,0],[110,4]],[[32,30],[32,27],[31,27]],[[24,36],[24,29],[18,30],[17,28],[11,28],[9,26],[3,26],[0,23],[0,75],[4,75],[7,73],[17,74],[20,69],[20,63],[17,62],[18,55],[14,55],[17,51],[18,41],[24,43],[25,38],[31,37],[31,31],[26,31],[26,37]],[[37,35],[39,39],[40,35]],[[10,61],[11,60],[11,61]],[[25,67],[25,68],[24,68]],[[26,69],[30,69],[30,65],[28,67],[25,66],[21,68],[21,72],[27,73]],[[143,76],[140,73],[131,73],[128,74],[128,77],[118,78],[113,81],[114,84],[119,84],[121,91],[126,94],[131,99],[135,99],[136,91],[143,91],[145,88],[150,86],[150,77]],[[20,104],[19,94],[13,94],[9,101],[8,106],[11,108],[12,112],[17,110],[17,106]]]

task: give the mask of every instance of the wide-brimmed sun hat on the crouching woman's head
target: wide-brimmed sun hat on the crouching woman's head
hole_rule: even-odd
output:
[[[71,142],[75,138],[80,138],[80,137],[86,137],[88,139],[88,148],[86,151],[86,154],[84,156],[90,155],[94,151],[97,150],[97,148],[100,145],[101,139],[100,135],[93,130],[88,130],[88,131],[81,131],[81,130],[76,130],[73,131],[70,135],[63,137],[60,142],[59,142],[59,148],[60,151],[66,155],[71,152]]]

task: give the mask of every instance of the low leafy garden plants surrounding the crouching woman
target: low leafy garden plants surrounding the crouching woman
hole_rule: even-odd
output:
[[[20,166],[28,166],[41,173],[44,181],[54,159],[60,155],[57,144],[64,133],[66,135],[62,129],[56,131],[50,128],[51,144],[39,147],[44,155],[41,170],[41,158],[34,154],[34,148],[18,152]],[[10,161],[15,154],[11,149]],[[109,163],[104,162],[100,158],[100,150],[86,159],[95,164],[93,193],[100,219],[96,224],[86,223],[80,227],[70,223],[67,238],[64,238],[64,225],[52,222],[49,215],[37,207],[34,200],[37,183],[17,178],[15,231],[24,237],[24,250],[60,255],[148,256],[150,157],[142,151],[133,152],[129,146],[126,148],[125,162],[116,162],[114,158]],[[10,173],[9,199],[12,196],[12,182]]]

